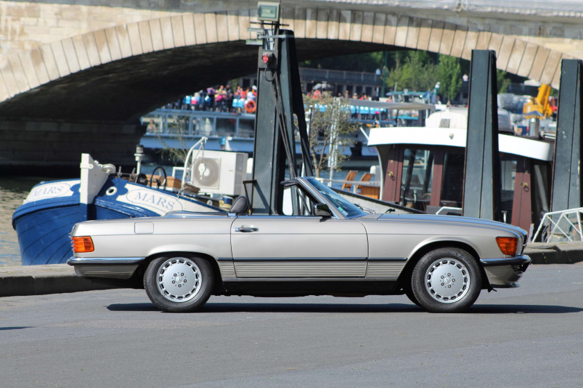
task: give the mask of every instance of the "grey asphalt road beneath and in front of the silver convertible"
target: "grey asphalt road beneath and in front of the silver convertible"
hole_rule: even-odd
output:
[[[211,297],[143,290],[0,298],[0,387],[583,387],[583,264],[531,266],[464,314],[405,296]]]

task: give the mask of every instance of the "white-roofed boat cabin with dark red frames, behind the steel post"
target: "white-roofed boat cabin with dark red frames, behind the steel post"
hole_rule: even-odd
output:
[[[498,112],[501,206],[506,222],[529,231],[548,211],[554,142],[518,136]],[[462,213],[467,109],[435,112],[425,127],[373,128],[381,199],[428,213]],[[480,188],[476,188],[480,190]]]

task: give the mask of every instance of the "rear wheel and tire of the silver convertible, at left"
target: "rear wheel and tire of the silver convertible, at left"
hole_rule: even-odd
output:
[[[144,273],[144,288],[154,305],[165,312],[193,312],[212,292],[210,263],[200,257],[159,257]]]

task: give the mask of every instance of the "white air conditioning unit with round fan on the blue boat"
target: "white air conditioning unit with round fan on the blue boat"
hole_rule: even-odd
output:
[[[245,152],[205,150],[192,164],[192,184],[201,193],[244,195],[247,158]]]

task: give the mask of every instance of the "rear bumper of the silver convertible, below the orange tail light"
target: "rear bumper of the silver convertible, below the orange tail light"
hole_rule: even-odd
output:
[[[130,279],[144,259],[144,257],[71,257],[67,260],[67,264],[75,267],[77,276]]]

